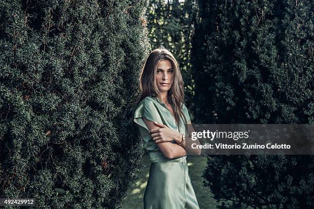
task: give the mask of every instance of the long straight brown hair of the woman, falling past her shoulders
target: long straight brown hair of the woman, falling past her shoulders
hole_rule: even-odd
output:
[[[156,85],[156,72],[159,62],[166,59],[171,62],[173,70],[172,84],[168,91],[168,101],[173,110],[174,120],[180,129],[180,117],[184,118],[185,123],[187,123],[182,112],[184,102],[184,83],[178,62],[167,49],[155,49],[148,55],[140,74],[140,100],[147,96],[158,96],[160,98],[160,91]]]

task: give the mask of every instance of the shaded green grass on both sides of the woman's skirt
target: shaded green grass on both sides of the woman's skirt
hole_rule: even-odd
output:
[[[200,208],[212,209],[216,208],[219,203],[212,198],[210,189],[204,188],[202,172],[206,167],[206,156],[188,155],[187,162],[189,166],[189,174],[193,184],[195,195],[197,196]],[[123,202],[123,209],[142,209],[143,196],[149,177],[150,161],[148,155],[144,155],[143,168],[140,178],[135,182],[128,191],[128,195]]]

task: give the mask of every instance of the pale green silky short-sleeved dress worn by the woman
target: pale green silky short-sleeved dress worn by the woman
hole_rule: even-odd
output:
[[[185,105],[183,105],[183,113],[188,122],[190,117]],[[165,124],[172,130],[179,130],[171,112],[158,97],[148,96],[139,102],[134,112],[134,122],[139,125],[144,149],[148,152],[151,161],[144,194],[144,208],[199,208],[188,173],[186,156],[170,160],[166,158],[148,133],[142,117]],[[185,122],[182,118],[179,132],[185,134]]]

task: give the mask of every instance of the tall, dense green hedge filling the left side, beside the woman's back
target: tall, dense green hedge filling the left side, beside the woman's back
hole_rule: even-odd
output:
[[[147,1],[1,1],[0,197],[115,208],[139,170]]]

